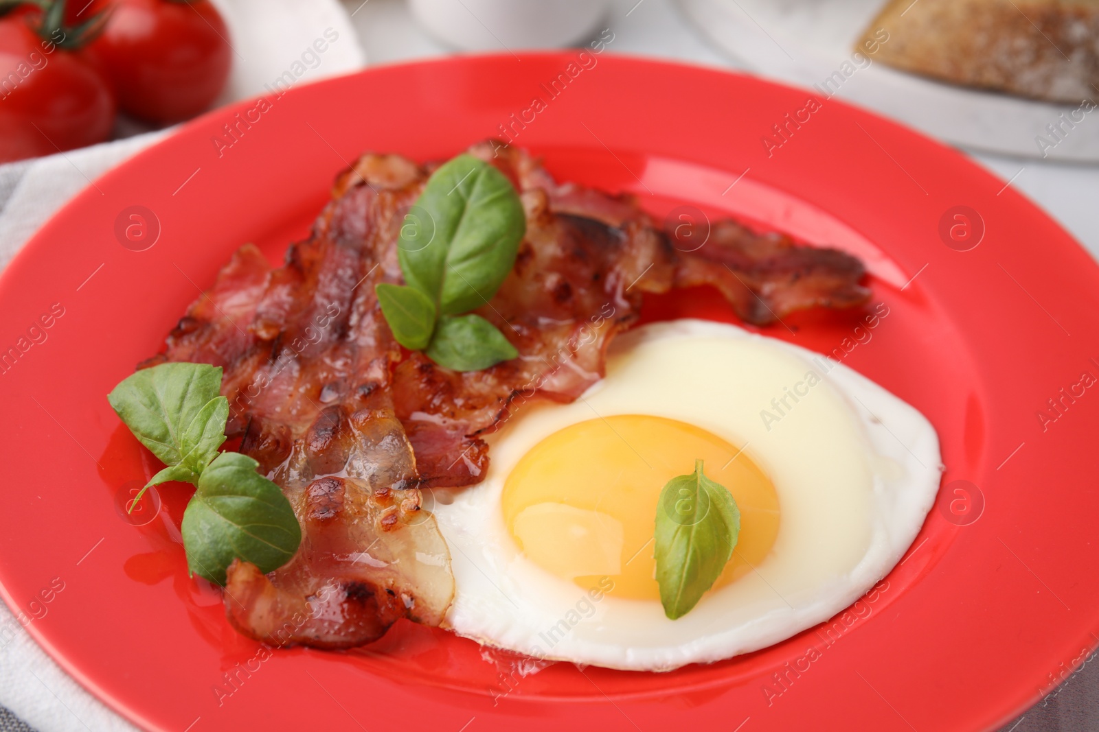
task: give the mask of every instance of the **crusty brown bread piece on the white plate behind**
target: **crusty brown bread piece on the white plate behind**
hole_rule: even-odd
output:
[[[875,60],[904,71],[1047,101],[1099,99],[1099,0],[890,0],[856,47],[870,41]]]

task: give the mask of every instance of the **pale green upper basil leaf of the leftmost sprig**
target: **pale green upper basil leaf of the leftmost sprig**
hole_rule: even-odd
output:
[[[211,420],[215,423],[221,414],[220,408],[210,407],[210,403],[218,399],[220,393],[220,367],[162,363],[131,374],[107,395],[107,399],[130,431],[162,462],[178,465],[187,459],[188,465],[195,466],[203,455],[208,455],[209,462],[225,441],[227,402],[224,416],[221,416],[220,439],[210,431],[215,426]],[[202,417],[196,423],[200,413]]]

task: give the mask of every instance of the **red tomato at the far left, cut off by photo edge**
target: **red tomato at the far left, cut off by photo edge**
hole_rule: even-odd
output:
[[[114,95],[93,59],[38,37],[26,20],[0,19],[0,161],[103,142]]]

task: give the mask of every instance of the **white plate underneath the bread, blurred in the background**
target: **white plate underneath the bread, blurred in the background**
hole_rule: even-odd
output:
[[[1051,160],[1099,162],[1099,112],[1063,125],[1057,142],[1046,125],[1079,105],[1047,104],[954,87],[874,61],[852,59],[855,42],[884,0],[680,0],[688,18],[717,46],[759,74],[823,88],[844,61],[854,68],[835,95],[876,110],[963,147]],[[887,42],[888,43],[888,42]],[[833,87],[834,88],[834,87]],[[821,92],[818,92],[819,94]],[[828,93],[828,91],[825,91]],[[1083,101],[1083,100],[1081,100]],[[1095,117],[1095,119],[1092,119]],[[1037,137],[1053,147],[1041,147]],[[1044,153],[1044,155],[1043,155]]]

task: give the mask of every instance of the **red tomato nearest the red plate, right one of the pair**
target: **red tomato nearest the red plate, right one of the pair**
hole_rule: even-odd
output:
[[[221,93],[232,63],[229,44],[229,30],[210,0],[116,0],[91,47],[103,60],[119,106],[168,123],[204,111]]]

